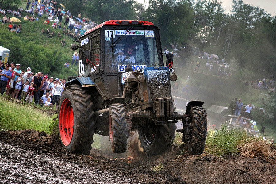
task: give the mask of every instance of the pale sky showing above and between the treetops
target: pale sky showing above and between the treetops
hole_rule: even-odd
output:
[[[144,0],[136,0],[137,2],[143,3]],[[148,2],[148,0],[145,0]],[[224,13],[231,13],[232,10],[232,0],[218,0],[222,2],[224,7]],[[276,15],[276,0],[243,0],[245,4],[251,4],[252,6],[259,6],[259,8],[264,9],[267,13],[270,13],[272,17]]]

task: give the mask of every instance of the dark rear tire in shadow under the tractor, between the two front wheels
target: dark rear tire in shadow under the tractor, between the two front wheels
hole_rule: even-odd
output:
[[[175,138],[175,123],[155,125],[143,124],[138,131],[141,147],[148,156],[160,155]]]

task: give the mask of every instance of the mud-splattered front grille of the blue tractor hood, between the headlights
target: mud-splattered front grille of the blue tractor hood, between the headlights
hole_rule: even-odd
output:
[[[147,73],[150,100],[170,97],[167,70],[148,70]]]

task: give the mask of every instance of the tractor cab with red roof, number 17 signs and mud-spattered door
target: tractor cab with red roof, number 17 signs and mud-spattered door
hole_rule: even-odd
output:
[[[71,45],[79,48],[78,77],[89,77],[104,99],[122,95],[127,64],[132,70],[163,66],[159,29],[148,21],[105,21],[79,40]]]

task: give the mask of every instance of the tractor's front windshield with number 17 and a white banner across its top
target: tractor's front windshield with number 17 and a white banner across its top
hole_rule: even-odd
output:
[[[128,63],[133,70],[159,66],[153,30],[105,30],[105,71],[125,72]]]

